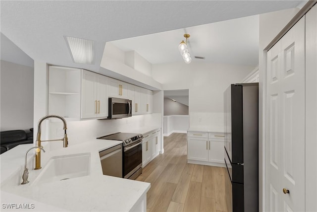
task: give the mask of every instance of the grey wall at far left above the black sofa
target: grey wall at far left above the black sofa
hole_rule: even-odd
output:
[[[1,131],[33,127],[34,69],[1,60]]]

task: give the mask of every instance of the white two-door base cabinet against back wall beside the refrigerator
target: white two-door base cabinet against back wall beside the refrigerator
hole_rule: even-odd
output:
[[[226,134],[208,132],[187,133],[188,163],[224,166]]]

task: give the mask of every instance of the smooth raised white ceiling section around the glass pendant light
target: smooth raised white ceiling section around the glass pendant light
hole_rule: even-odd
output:
[[[257,66],[259,15],[203,24],[112,41],[123,51],[134,50],[152,64],[182,62],[178,45],[190,34],[187,47],[193,61]],[[195,59],[205,57],[205,60]]]

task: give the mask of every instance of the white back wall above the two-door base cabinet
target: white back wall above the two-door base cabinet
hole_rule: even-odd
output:
[[[239,83],[255,67],[211,63],[169,63],[152,66],[164,90],[189,89],[190,127],[223,126],[223,91]],[[220,118],[221,118],[221,122]]]

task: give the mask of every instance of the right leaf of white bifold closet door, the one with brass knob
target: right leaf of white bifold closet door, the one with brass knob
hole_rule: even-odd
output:
[[[282,211],[305,211],[305,17],[282,38]]]

